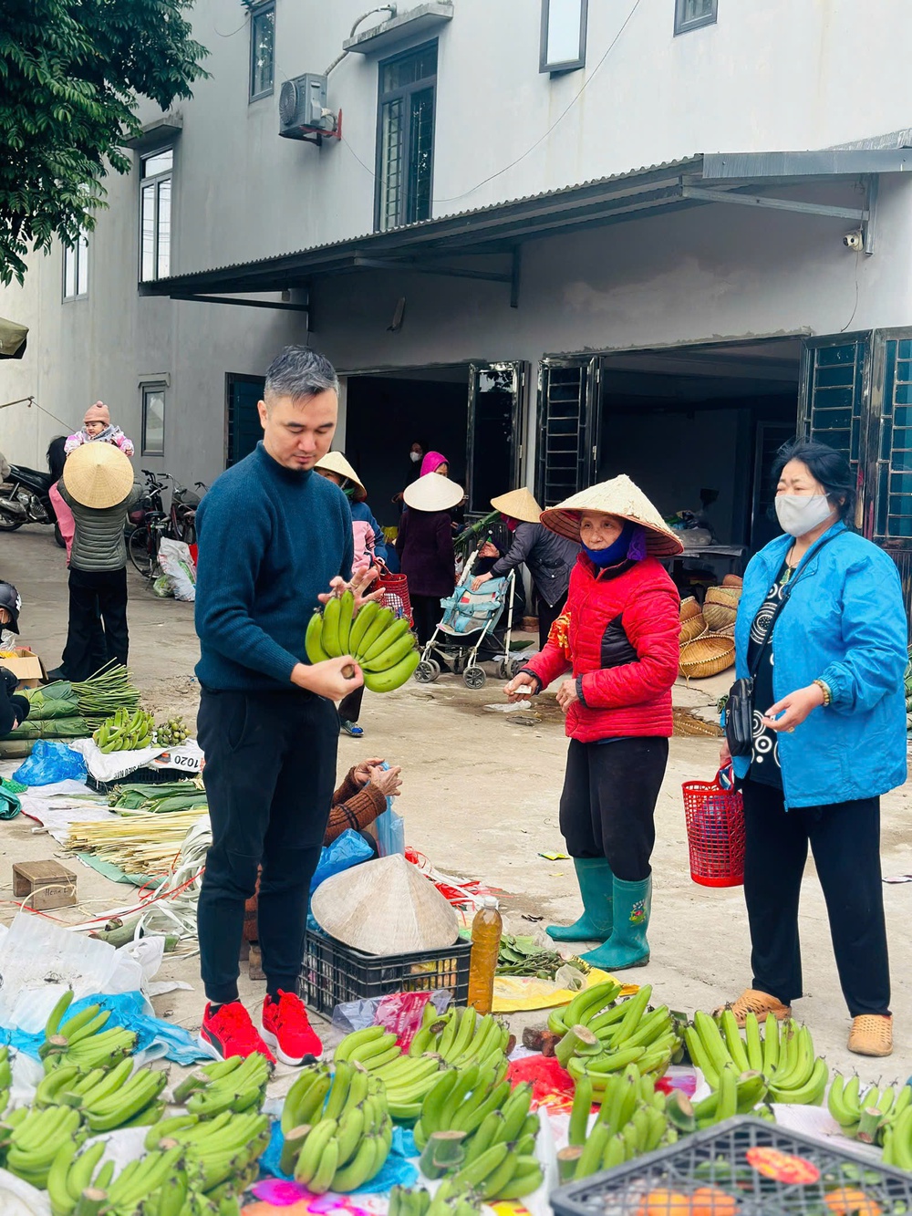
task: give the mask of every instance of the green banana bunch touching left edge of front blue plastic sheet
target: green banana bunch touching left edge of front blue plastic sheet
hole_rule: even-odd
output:
[[[191,1114],[175,1115],[150,1127],[146,1149],[165,1150],[179,1144],[184,1150],[186,1190],[209,1203],[221,1203],[255,1182],[259,1159],[269,1144],[269,1116],[253,1110],[240,1115],[226,1110],[204,1120]]]

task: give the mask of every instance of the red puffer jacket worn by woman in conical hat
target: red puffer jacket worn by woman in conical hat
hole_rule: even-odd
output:
[[[567,733],[580,743],[671,734],[671,685],[677,676],[680,599],[652,557],[599,570],[580,553],[564,613],[573,662],[553,641],[527,665],[547,688],[573,670],[579,702],[567,713]]]

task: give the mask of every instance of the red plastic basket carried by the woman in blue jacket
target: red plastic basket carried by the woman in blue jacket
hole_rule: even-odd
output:
[[[744,882],[744,804],[717,781],[683,783],[691,878],[702,886]]]

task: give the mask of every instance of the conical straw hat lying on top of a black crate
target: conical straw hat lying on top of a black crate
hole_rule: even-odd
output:
[[[325,933],[365,955],[440,950],[458,936],[454,908],[398,852],[327,878],[310,911]]]

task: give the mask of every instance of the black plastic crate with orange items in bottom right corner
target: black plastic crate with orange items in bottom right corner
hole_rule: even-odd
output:
[[[766,1177],[749,1162],[751,1148],[801,1158],[820,1177],[804,1183]],[[689,1197],[700,1187],[732,1195],[739,1216],[828,1216],[824,1195],[837,1187],[863,1190],[884,1216],[912,1212],[912,1175],[750,1118],[730,1119],[615,1170],[572,1182],[552,1194],[551,1206],[558,1216],[636,1216],[651,1190]]]

